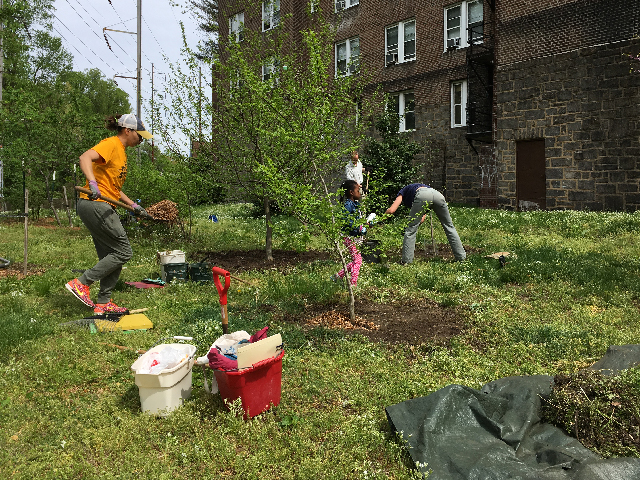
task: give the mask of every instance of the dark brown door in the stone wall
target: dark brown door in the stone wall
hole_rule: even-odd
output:
[[[544,140],[516,142],[516,198],[518,210],[547,208]]]

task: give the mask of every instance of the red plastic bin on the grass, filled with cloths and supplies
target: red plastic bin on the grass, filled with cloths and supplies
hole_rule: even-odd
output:
[[[242,399],[244,418],[252,418],[280,404],[282,393],[282,357],[268,358],[251,368],[237,372],[214,370],[223,400]]]

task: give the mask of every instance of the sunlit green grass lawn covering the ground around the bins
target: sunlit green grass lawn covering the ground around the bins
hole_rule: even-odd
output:
[[[158,250],[195,260],[203,250],[262,248],[264,219],[250,205],[197,208],[190,237],[130,232],[134,256],[114,301],[148,307],[155,327],[129,334],[59,326],[88,313],[64,284],[77,276],[72,269],[95,263],[93,244],[84,227],[30,227],[29,263],[43,273],[0,279],[0,478],[419,478],[389,431],[386,406],[452,383],[478,388],[509,375],[573,373],[609,345],[640,343],[640,213],[451,213],[464,245],[478,253],[463,263],[401,267],[398,219],[379,233],[388,268],[365,264],[358,290],[379,302],[425,297],[457,308],[466,330],[446,345],[388,346],[287,322],[305,303],[346,302],[329,281],[337,261],[232,281],[231,329],[269,325],[286,350],[280,406],[247,422],[237,406],[228,411],[204,391],[198,369],[182,408],[165,419],[141,414],[129,369],[137,355],[105,343],[147,349],[191,335],[206,354],[222,333],[213,284],[136,290],[124,282],[157,274]],[[326,249],[297,222],[274,223],[274,248]],[[439,225],[436,235],[446,243]],[[22,262],[22,225],[0,223],[0,237],[0,257]],[[484,258],[497,251],[516,258],[500,268]]]

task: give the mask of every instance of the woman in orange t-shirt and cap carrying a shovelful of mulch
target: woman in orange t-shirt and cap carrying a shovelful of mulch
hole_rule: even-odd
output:
[[[127,311],[113,303],[111,292],[118,282],[122,266],[132,254],[120,217],[115,208],[100,196],[119,199],[139,213],[145,213],[140,205],[122,191],[127,177],[125,148],[135,147],[143,139],[153,138],[142,121],[131,113],[107,118],[107,129],[116,131],[116,135],[105,138],[80,155],[80,169],[87,177],[86,188],[91,190],[91,194],[80,194],[77,211],[93,237],[99,261],[79,278],[65,285],[67,290],[85,305],[93,307],[98,314]],[[96,303],[93,303],[89,287],[97,281],[100,281],[100,291]]]

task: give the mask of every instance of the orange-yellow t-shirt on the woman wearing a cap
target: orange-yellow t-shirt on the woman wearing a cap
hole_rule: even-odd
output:
[[[98,182],[100,193],[120,200],[120,191],[127,178],[127,154],[124,145],[117,136],[113,136],[105,138],[91,150],[98,152],[101,157],[100,160],[93,162],[93,174]],[[89,188],[88,180],[85,188]],[[80,197],[89,198],[84,193],[81,193]]]

